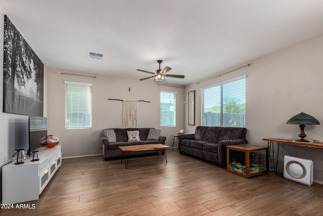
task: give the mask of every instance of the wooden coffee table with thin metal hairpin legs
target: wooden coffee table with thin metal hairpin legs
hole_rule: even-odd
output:
[[[122,151],[121,162],[123,160],[123,156],[125,156],[125,167],[127,168],[128,161],[129,161],[129,152],[156,150],[157,158],[159,158],[159,150],[170,149],[171,147],[163,144],[145,144],[145,145],[133,145],[133,146],[119,146],[118,148],[121,149]],[[166,151],[164,153],[164,156],[167,163]]]

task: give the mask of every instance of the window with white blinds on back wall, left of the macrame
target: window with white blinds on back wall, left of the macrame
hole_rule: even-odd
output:
[[[65,128],[92,127],[92,84],[65,82]]]

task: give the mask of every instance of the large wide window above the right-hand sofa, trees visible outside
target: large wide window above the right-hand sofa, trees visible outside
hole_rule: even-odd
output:
[[[239,79],[202,90],[204,126],[245,127],[246,79]]]

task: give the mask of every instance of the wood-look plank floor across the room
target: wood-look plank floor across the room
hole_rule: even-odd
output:
[[[164,157],[63,159],[35,209],[0,215],[323,215],[323,185],[273,172],[246,179],[167,150]]]

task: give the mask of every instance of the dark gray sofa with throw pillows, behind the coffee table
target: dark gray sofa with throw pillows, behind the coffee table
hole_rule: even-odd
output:
[[[108,158],[113,157],[121,157],[122,152],[118,148],[118,146],[129,146],[129,145],[142,145],[142,144],[164,144],[166,137],[164,136],[157,136],[155,138],[151,138],[149,136],[149,140],[147,140],[150,129],[156,131],[155,128],[106,128],[102,130],[102,138],[101,142],[103,145],[103,157],[106,161]],[[128,133],[127,131],[139,131],[139,138],[140,141],[128,141]],[[160,130],[159,130],[160,131]],[[109,133],[114,133],[114,139],[110,139],[107,135]],[[113,141],[113,142],[112,142]],[[152,154],[156,153],[155,150],[149,151],[140,151],[140,152],[130,152],[129,155],[145,155],[145,154]],[[161,153],[164,153],[164,150],[161,150]]]

